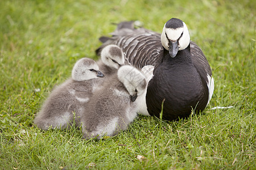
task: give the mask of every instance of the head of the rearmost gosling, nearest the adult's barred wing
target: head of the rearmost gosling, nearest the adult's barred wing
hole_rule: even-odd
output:
[[[117,45],[105,46],[101,51],[102,62],[109,67],[118,69],[125,63],[125,57],[123,56],[122,49]]]

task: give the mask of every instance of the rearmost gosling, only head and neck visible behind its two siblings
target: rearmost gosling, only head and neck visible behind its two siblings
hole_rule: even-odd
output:
[[[101,59],[97,61],[100,70],[106,78],[114,74],[119,67],[125,64],[123,51],[117,45],[107,45],[101,51]]]

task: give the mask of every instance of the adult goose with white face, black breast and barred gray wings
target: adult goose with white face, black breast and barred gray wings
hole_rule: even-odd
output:
[[[172,18],[164,24],[162,34],[145,28],[134,28],[134,22],[122,22],[112,37],[104,42],[122,48],[126,60],[138,69],[155,67],[148,83],[146,104],[152,116],[159,117],[163,104],[163,119],[188,117],[191,111],[203,111],[214,89],[212,71],[202,50],[190,40],[187,25]]]

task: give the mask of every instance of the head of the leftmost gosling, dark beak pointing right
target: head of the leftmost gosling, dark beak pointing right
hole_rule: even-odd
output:
[[[98,69],[97,63],[90,58],[81,58],[75,63],[72,70],[72,79],[77,82],[104,77]]]

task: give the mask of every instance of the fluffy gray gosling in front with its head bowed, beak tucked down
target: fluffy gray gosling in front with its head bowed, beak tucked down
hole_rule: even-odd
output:
[[[81,115],[83,138],[112,137],[126,130],[137,116],[140,101],[136,99],[146,85],[141,71],[130,65],[121,66],[86,104],[88,109]]]

